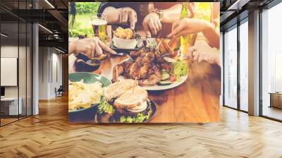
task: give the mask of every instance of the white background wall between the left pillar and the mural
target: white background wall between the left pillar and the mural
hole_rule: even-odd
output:
[[[57,75],[57,76],[56,76]],[[62,85],[62,55],[51,47],[39,47],[39,99],[56,97]]]

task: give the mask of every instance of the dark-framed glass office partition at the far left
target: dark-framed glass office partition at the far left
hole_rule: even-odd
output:
[[[13,11],[32,1],[0,1]],[[8,5],[9,4],[9,5]],[[0,8],[0,126],[32,115],[32,24]],[[26,13],[26,12],[25,12]]]

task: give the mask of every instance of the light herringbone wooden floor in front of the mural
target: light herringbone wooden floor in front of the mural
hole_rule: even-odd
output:
[[[282,157],[282,123],[221,108],[221,123],[68,124],[67,97],[0,128],[0,157]]]

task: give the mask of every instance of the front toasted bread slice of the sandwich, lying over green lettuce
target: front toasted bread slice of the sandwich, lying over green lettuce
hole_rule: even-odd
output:
[[[114,102],[114,106],[119,109],[128,109],[129,111],[130,109],[132,111],[140,111],[147,108],[147,104],[144,104],[147,101],[147,97],[147,90],[137,85],[125,91],[121,97],[118,97]]]

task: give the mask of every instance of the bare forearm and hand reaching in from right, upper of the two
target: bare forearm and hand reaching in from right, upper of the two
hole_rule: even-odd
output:
[[[172,31],[167,36],[169,38],[180,35],[196,34],[204,31],[210,25],[209,22],[195,18],[183,18],[172,25]]]

